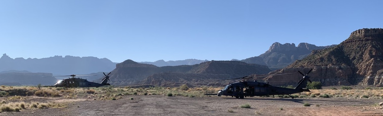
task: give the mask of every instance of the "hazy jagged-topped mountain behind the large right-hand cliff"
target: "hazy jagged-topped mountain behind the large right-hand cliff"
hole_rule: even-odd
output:
[[[280,44],[275,42],[265,53],[241,61],[245,63],[267,65],[270,69],[276,70],[285,68],[294,61],[306,57],[313,50],[330,48],[334,46],[335,45],[316,46],[308,43],[300,43],[296,47],[294,43]]]

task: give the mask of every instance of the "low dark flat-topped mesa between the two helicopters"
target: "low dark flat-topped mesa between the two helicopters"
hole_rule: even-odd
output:
[[[265,74],[270,71],[267,66],[241,61],[207,61],[195,65],[157,67],[126,60],[116,64],[116,69],[110,75],[110,84],[176,86],[187,81],[193,81],[190,84],[195,84],[200,81]]]

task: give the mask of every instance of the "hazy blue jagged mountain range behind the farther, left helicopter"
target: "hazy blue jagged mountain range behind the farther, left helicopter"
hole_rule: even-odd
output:
[[[110,72],[116,68],[107,58],[53,56],[49,58],[10,58],[3,54],[0,58],[0,71],[28,71],[33,73],[52,73],[54,75],[90,74],[95,72]],[[15,72],[10,71],[10,72]]]

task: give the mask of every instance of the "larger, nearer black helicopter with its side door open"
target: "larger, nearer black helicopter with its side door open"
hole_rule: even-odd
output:
[[[226,85],[226,87],[218,91],[218,94],[205,94],[205,95],[218,95],[218,96],[225,95],[225,96],[231,96],[236,98],[264,96],[264,95],[289,95],[291,98],[294,98],[293,96],[291,96],[291,94],[293,93],[310,92],[310,90],[307,89],[306,86],[307,86],[307,81],[311,82],[309,80],[310,77],[307,75],[312,70],[313,69],[311,69],[306,75],[301,73],[301,71],[298,71],[300,74],[303,75],[303,79],[301,79],[298,82],[298,85],[295,87],[295,89],[276,87],[264,82],[241,81],[241,82],[235,82],[235,83]],[[287,74],[292,74],[292,73],[287,73]],[[276,75],[282,75],[282,74],[276,74]],[[249,79],[249,78],[252,78],[252,77],[245,76],[245,77],[236,78],[236,79]],[[224,80],[230,80],[230,79],[224,79]],[[218,81],[223,81],[223,80],[218,80]],[[209,82],[212,82],[212,81],[209,81]]]

